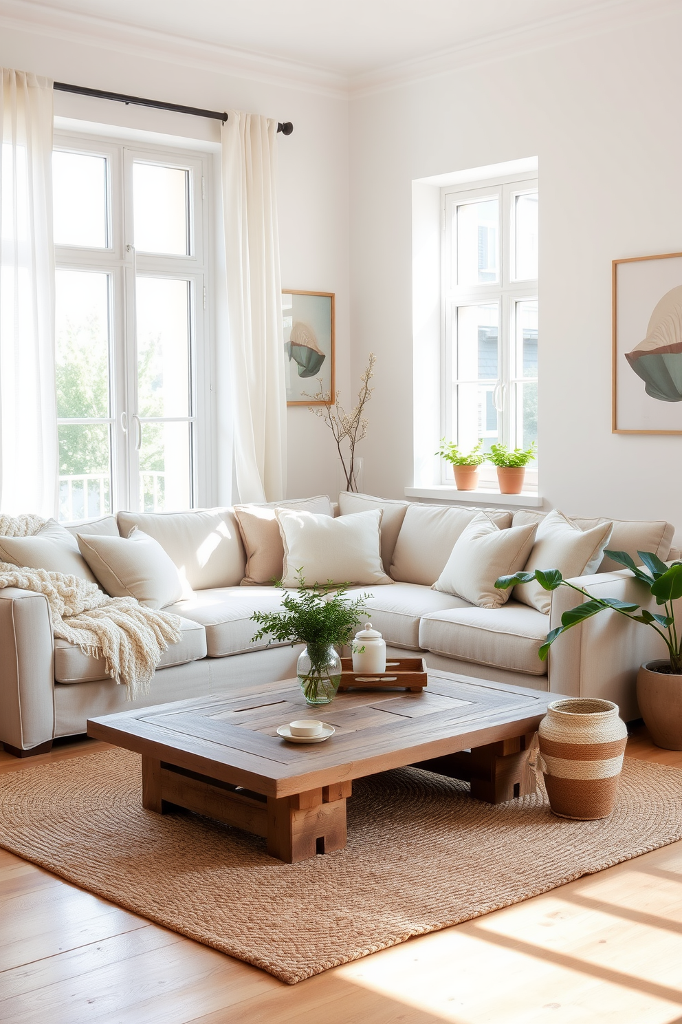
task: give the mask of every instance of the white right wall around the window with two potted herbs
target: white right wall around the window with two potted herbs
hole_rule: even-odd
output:
[[[537,156],[540,489],[569,514],[682,529],[682,436],[610,432],[611,260],[682,250],[680,38],[679,8],[613,14],[608,34],[352,101],[353,380],[378,357],[366,489],[412,482],[412,181]]]

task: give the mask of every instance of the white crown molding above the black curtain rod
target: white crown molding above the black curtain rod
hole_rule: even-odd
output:
[[[154,29],[57,10],[34,0],[0,0],[0,27],[74,43],[86,43],[146,60],[171,60],[199,71],[252,79],[336,98],[348,98],[347,75]],[[88,83],[93,85],[93,83]]]

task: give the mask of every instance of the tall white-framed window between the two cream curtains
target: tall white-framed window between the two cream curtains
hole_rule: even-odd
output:
[[[196,504],[201,154],[57,137],[59,517]]]

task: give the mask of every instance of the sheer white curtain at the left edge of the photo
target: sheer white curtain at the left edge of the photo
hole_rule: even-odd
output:
[[[2,69],[0,510],[54,515],[52,82]]]

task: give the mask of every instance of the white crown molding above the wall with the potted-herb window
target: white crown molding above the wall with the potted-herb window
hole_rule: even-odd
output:
[[[575,42],[589,35],[612,32],[615,17],[618,18],[618,28],[622,28],[652,20],[680,9],[681,0],[602,0],[601,3],[570,14],[543,18],[505,32],[491,33],[425,57],[402,60],[352,76],[349,93],[354,99],[362,98],[400,88],[410,82],[437,78],[464,68],[494,63],[508,57]]]

